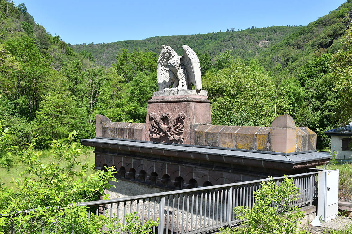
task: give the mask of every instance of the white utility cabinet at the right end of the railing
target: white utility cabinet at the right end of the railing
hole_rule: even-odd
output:
[[[339,170],[323,170],[318,174],[318,217],[327,222],[338,213]]]

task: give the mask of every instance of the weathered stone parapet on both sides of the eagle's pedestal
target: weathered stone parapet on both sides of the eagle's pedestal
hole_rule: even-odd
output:
[[[96,116],[96,137],[145,141],[146,124],[115,123]],[[271,152],[301,152],[316,149],[316,134],[307,127],[296,127],[289,115],[277,117],[270,127],[190,125],[190,144]]]

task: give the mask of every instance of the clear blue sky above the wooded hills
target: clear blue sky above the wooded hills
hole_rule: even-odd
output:
[[[67,43],[106,43],[163,35],[226,31],[233,27],[307,25],[342,0],[50,1],[24,3],[37,24]]]

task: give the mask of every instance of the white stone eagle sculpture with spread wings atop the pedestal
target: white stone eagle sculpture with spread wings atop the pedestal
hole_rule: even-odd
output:
[[[197,54],[183,45],[183,56],[178,56],[170,46],[162,46],[157,65],[159,91],[202,89],[202,75]],[[170,86],[172,87],[170,88]]]

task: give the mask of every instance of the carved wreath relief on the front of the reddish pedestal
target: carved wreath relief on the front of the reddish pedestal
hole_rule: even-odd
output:
[[[160,117],[157,116],[155,112],[149,114],[151,120],[149,131],[150,139],[160,139],[167,135],[169,140],[172,141],[183,141],[184,136],[182,136],[184,128],[184,118],[186,114],[180,112],[175,118],[172,118],[170,112],[164,112]]]

